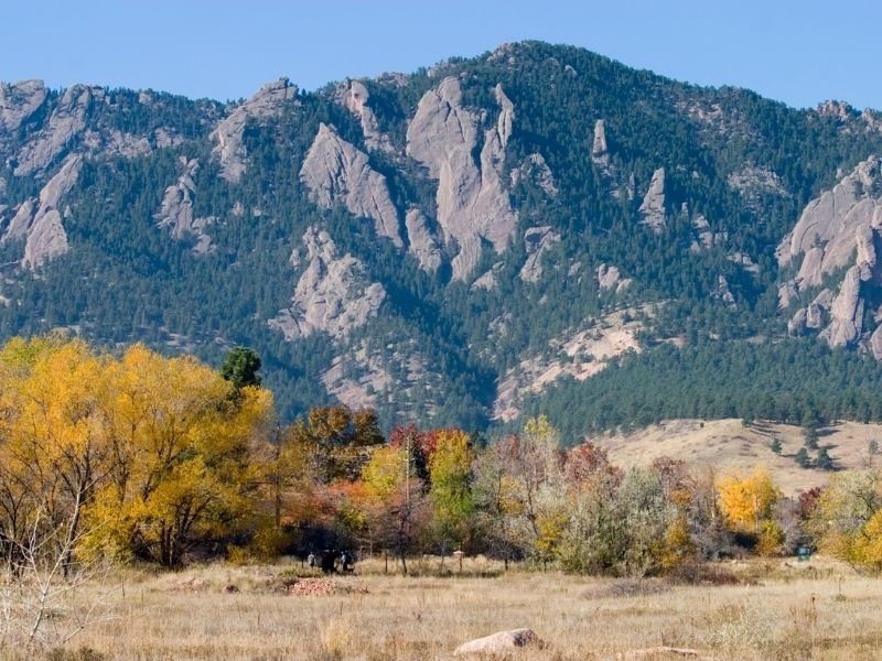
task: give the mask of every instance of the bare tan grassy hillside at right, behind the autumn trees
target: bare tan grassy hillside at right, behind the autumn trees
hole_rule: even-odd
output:
[[[875,440],[882,447],[882,425],[842,422],[819,430],[819,447],[826,447],[841,469],[865,468],[872,462],[882,465],[882,456],[870,457],[868,444]],[[773,438],[782,444],[781,455],[770,449]],[[659,456],[684,459],[695,468],[713,466],[718,475],[750,472],[754,466],[768,468],[785,496],[819,487],[829,474],[800,467],[794,459],[804,443],[803,430],[795,425],[757,421],[744,427],[740,420],[670,420],[628,435],[592,438],[623,468],[649,465]],[[814,455],[814,453],[811,453]],[[882,653],[880,654],[882,657]]]

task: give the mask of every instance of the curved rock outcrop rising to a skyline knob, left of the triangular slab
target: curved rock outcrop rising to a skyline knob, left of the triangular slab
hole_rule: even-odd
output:
[[[216,143],[212,153],[220,161],[220,176],[238,182],[247,167],[248,150],[243,138],[249,119],[266,120],[281,112],[281,105],[297,97],[297,87],[288,78],[268,83],[251,98],[236,108],[217,124],[211,139]]]

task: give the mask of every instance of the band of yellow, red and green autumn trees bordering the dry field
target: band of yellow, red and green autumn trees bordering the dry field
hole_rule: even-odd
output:
[[[282,426],[259,359],[236,350],[228,364],[247,378],[142,345],[110,355],[47,336],[0,349],[3,557],[39,529],[68,531],[79,557],[170,567],[327,548],[386,552],[407,572],[413,553],[463,550],[643,576],[808,544],[882,570],[874,473],[789,501],[762,467],[623,470],[600,444],[564,451],[544,416],[486,447],[412,424],[387,438],[373,411],[342,405]]]

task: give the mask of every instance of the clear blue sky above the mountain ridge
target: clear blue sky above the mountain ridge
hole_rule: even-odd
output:
[[[796,107],[882,108],[880,25],[879,0],[4,0],[0,80],[225,100],[280,75],[314,89],[538,39]]]

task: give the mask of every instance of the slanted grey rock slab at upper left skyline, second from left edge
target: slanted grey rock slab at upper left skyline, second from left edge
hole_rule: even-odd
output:
[[[86,85],[74,85],[65,90],[46,126],[19,152],[15,176],[45,170],[83,132],[89,106],[95,100],[103,100],[104,96],[100,87]]]

